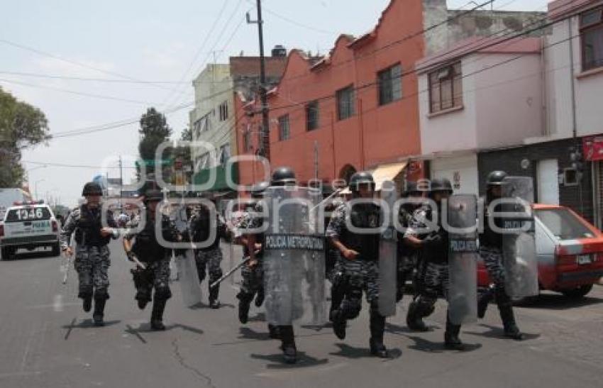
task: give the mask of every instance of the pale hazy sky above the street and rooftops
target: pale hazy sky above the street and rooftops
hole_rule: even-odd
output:
[[[546,11],[547,2],[494,0],[493,8]],[[123,157],[124,182],[133,177],[138,119],[148,107],[170,112],[167,122],[177,138],[188,125],[192,79],[205,65],[228,62],[240,53],[258,55],[257,26],[245,22],[247,11],[255,19],[255,0],[1,3],[0,87],[40,108],[54,136],[48,145],[23,153],[31,190],[69,206],[96,174],[119,177],[118,155]],[[284,45],[325,53],[340,33],[370,31],[387,4],[389,0],[264,0],[265,48],[270,52]],[[448,0],[448,7],[471,9],[475,4]],[[128,125],[115,125],[119,123]],[[111,126],[116,128],[92,131]],[[84,129],[89,131],[83,135],[65,133]]]

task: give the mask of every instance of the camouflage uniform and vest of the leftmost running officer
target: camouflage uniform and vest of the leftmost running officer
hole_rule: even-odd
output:
[[[111,211],[107,211],[106,222],[109,227],[117,228]],[[60,234],[61,248],[71,245],[72,234],[75,233],[76,248],[74,268],[79,277],[78,297],[92,297],[93,292],[104,299],[109,299],[109,238],[100,236],[101,208],[88,209],[86,205],[74,209],[67,217]],[[114,229],[111,238],[118,238],[119,232]]]

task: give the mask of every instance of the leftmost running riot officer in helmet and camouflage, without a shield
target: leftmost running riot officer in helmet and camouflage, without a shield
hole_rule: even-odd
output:
[[[75,233],[74,267],[79,277],[78,297],[83,300],[84,311],[92,309],[94,295],[94,326],[104,326],[104,308],[109,299],[109,241],[118,238],[119,231],[113,213],[107,210],[107,227],[102,224],[101,197],[103,191],[99,184],[88,182],[84,185],[82,196],[85,203],[71,212],[63,226],[60,240],[61,249],[66,255],[73,255],[70,247],[72,233]]]

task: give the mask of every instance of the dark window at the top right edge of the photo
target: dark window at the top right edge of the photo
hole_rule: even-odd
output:
[[[603,8],[580,15],[582,71],[603,67]]]

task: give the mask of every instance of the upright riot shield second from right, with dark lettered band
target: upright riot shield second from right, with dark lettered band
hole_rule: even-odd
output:
[[[455,325],[477,321],[477,197],[448,198],[448,314]]]

